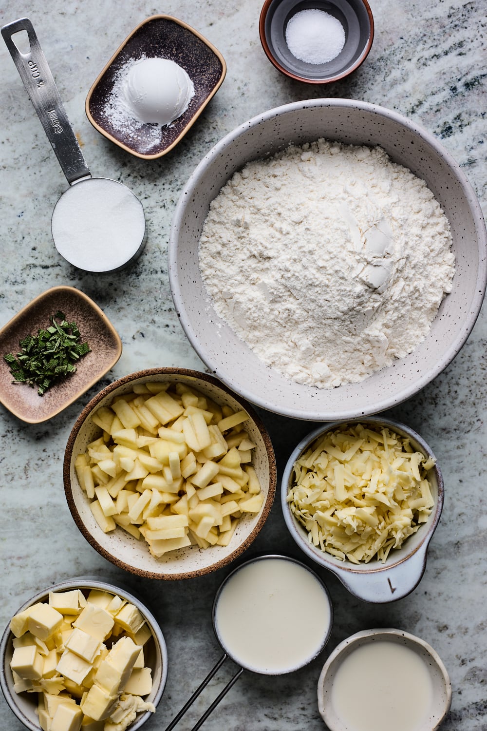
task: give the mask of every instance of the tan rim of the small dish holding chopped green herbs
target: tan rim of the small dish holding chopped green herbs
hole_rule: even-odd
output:
[[[95,316],[101,320],[101,322],[104,323],[104,326],[107,328],[107,330],[112,335],[112,338],[115,340],[115,349],[113,351],[113,355],[110,358],[110,360],[107,360],[107,364],[103,367],[101,371],[98,371],[89,381],[86,382],[85,385],[80,389],[77,389],[72,395],[69,395],[68,398],[66,398],[66,401],[63,401],[62,404],[58,405],[55,409],[53,409],[49,414],[42,416],[42,417],[27,417],[26,415],[23,415],[20,409],[18,409],[15,404],[6,404],[4,401],[4,398],[2,396],[1,390],[0,390],[0,404],[3,404],[6,409],[9,410],[14,416],[16,416],[18,419],[22,420],[23,422],[27,424],[40,424],[45,421],[48,421],[52,419],[53,417],[60,414],[64,409],[66,409],[68,406],[71,406],[71,404],[74,403],[74,401],[77,401],[78,398],[80,398],[83,393],[86,393],[93,385],[95,385],[105,374],[110,371],[113,366],[115,366],[115,363],[118,363],[118,360],[120,360],[120,356],[122,355],[122,341],[120,340],[120,336],[118,335],[117,330],[115,330],[115,327],[112,325],[112,322],[108,319],[107,315],[104,314],[104,311],[96,304],[96,302],[93,302],[93,300],[88,297],[88,295],[85,295],[85,292],[82,292],[81,289],[77,289],[77,287],[69,287],[68,285],[61,284],[56,287],[50,287],[49,289],[46,289],[45,292],[41,292],[39,295],[34,297],[30,302],[28,302],[26,305],[24,305],[13,317],[9,319],[8,322],[5,323],[0,328],[0,336],[6,332],[9,327],[12,327],[12,325],[15,325],[15,321],[17,319],[20,319],[23,315],[28,313],[29,310],[34,308],[39,304],[39,302],[42,302],[42,300],[45,300],[49,298],[52,295],[55,295],[56,293],[65,292],[66,294],[69,294],[73,299],[83,300],[88,307],[93,310]]]

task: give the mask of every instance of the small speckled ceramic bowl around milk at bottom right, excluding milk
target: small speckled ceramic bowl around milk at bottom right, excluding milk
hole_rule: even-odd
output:
[[[338,715],[331,702],[331,691],[334,677],[340,664],[362,645],[374,642],[390,642],[402,645],[415,652],[424,662],[432,679],[433,701],[428,719],[418,727],[417,731],[435,731],[440,728],[443,719],[450,709],[451,683],[448,671],[437,652],[415,635],[401,629],[365,629],[357,632],[334,649],[321,670],[318,680],[318,711],[329,731],[348,731],[350,726]]]

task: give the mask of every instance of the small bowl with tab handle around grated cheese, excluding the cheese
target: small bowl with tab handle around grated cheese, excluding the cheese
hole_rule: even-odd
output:
[[[391,550],[384,562],[372,559],[368,564],[353,564],[351,561],[340,561],[339,558],[331,556],[330,553],[322,551],[321,548],[316,548],[315,545],[310,543],[306,529],[296,520],[287,501],[293,477],[293,466],[302,453],[310,447],[315,439],[323,436],[327,431],[334,431],[340,427],[345,428],[346,425],[353,425],[354,423],[370,425],[372,428],[379,429],[386,427],[409,439],[415,451],[436,459],[431,447],[426,444],[418,433],[410,427],[391,419],[369,417],[367,419],[350,419],[346,422],[321,425],[299,442],[284,468],[280,493],[284,520],[291,537],[299,548],[323,569],[328,569],[336,575],[351,594],[358,596],[358,599],[362,599],[364,602],[374,604],[396,602],[397,599],[403,599],[404,596],[410,594],[418,586],[426,569],[426,553],[440,520],[445,494],[443,477],[437,463],[427,473],[434,499],[434,508],[431,515],[415,534],[404,541],[402,548]]]

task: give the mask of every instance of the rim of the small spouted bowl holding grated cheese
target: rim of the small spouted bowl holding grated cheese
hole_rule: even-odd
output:
[[[399,556],[398,558],[396,558],[396,560],[391,561],[388,564],[377,563],[377,561],[370,561],[368,564],[353,564],[351,561],[338,561],[325,551],[320,551],[318,553],[317,549],[313,550],[313,548],[308,545],[307,540],[304,538],[304,528],[302,528],[298,520],[296,520],[296,518],[292,514],[291,508],[289,507],[287,501],[289,480],[291,478],[293,465],[296,459],[299,458],[300,455],[302,455],[302,452],[307,450],[307,447],[310,447],[310,444],[312,444],[312,442],[315,442],[315,440],[324,433],[328,431],[334,431],[335,429],[340,427],[345,427],[347,425],[353,425],[358,423],[369,423],[377,426],[385,426],[391,431],[398,433],[399,436],[402,436],[402,433],[404,433],[413,442],[416,442],[426,455],[436,460],[436,456],[434,455],[432,448],[429,447],[429,444],[424,441],[423,437],[416,431],[414,431],[414,429],[410,428],[410,426],[407,426],[406,424],[397,420],[388,419],[387,417],[381,416],[358,417],[355,419],[341,420],[337,422],[322,424],[313,429],[310,433],[307,434],[307,436],[304,436],[301,442],[296,445],[293,452],[291,452],[288,461],[285,463],[283,477],[280,485],[280,498],[284,521],[289,533],[291,534],[291,537],[296,542],[296,545],[298,545],[299,548],[307,554],[307,556],[312,558],[312,560],[315,561],[318,566],[321,566],[324,569],[328,569],[329,571],[333,572],[340,580],[343,580],[342,577],[353,577],[358,582],[362,575],[370,576],[384,574],[391,569],[394,569],[395,567],[401,567],[402,564],[404,564],[406,561],[409,561],[409,559],[413,558],[415,555],[421,556],[421,553],[425,551],[424,560],[421,562],[422,571],[420,575],[416,577],[417,580],[414,585],[410,587],[409,591],[407,591],[407,594],[410,594],[410,592],[413,591],[416,586],[418,586],[418,583],[421,581],[424,569],[426,568],[426,550],[428,548],[429,542],[433,537],[434,531],[436,531],[437,529],[442,514],[443,503],[445,499],[445,485],[442,477],[442,472],[437,464],[437,461],[435,461],[434,466],[432,467],[432,470],[436,474],[437,478],[437,499],[435,501],[434,511],[432,512],[431,517],[429,518],[428,522],[424,523],[422,526],[425,530],[421,531],[421,540],[418,540],[418,545],[415,545],[415,547],[408,553],[403,556]],[[389,554],[389,556],[391,556],[391,554]],[[347,586],[347,584],[345,584],[345,586]],[[357,589],[357,586],[358,583],[355,584],[356,591],[353,591],[352,593],[356,594],[356,596],[358,596],[359,598],[364,599],[364,597],[360,595],[360,591]],[[349,589],[349,591],[351,591],[350,586],[347,586],[347,588]],[[403,596],[404,594],[401,594],[401,596],[397,596],[396,599],[402,599]],[[394,594],[388,600],[391,601],[392,599],[394,599]]]

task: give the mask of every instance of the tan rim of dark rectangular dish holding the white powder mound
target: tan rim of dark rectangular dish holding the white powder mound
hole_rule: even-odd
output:
[[[142,152],[137,152],[137,150],[134,150],[134,148],[129,147],[129,145],[125,145],[123,142],[120,142],[120,140],[117,139],[117,137],[114,137],[113,135],[110,135],[110,132],[107,132],[104,127],[98,124],[96,120],[93,118],[93,115],[91,114],[90,109],[90,102],[91,102],[91,96],[93,95],[93,91],[95,91],[96,86],[98,86],[99,81],[101,80],[101,77],[104,76],[104,74],[107,72],[107,70],[112,65],[113,61],[115,61],[115,58],[120,54],[120,52],[123,50],[123,48],[126,47],[127,43],[131,40],[131,38],[139,31],[139,29],[142,28],[142,26],[145,26],[147,23],[150,23],[153,20],[172,20],[173,23],[176,23],[177,26],[181,26],[182,28],[185,28],[188,31],[191,31],[191,33],[199,38],[205,45],[207,45],[210,50],[212,50],[213,53],[215,53],[215,56],[218,58],[218,61],[221,63],[221,75],[218,79],[218,82],[215,84],[215,86],[212,88],[212,91],[210,94],[208,94],[207,98],[204,100],[202,105],[199,106],[199,108],[196,110],[196,112],[193,114],[191,119],[188,121],[188,124],[185,125],[184,129],[181,131],[180,135],[177,136],[177,138],[170,144],[167,145],[164,150],[160,152],[156,152],[153,154],[144,154]],[[182,137],[188,132],[188,129],[190,129],[191,126],[193,126],[194,122],[196,122],[196,119],[199,117],[199,115],[203,112],[204,107],[207,106],[207,104],[210,102],[213,96],[217,93],[218,89],[223,84],[223,80],[226,77],[226,61],[223,58],[222,54],[218,50],[218,48],[215,48],[215,46],[210,43],[210,41],[204,37],[199,31],[196,31],[192,26],[188,25],[188,23],[185,23],[184,20],[179,20],[179,18],[174,18],[172,15],[164,15],[164,14],[156,14],[156,15],[150,15],[149,18],[145,18],[145,20],[142,20],[138,25],[134,28],[133,31],[129,33],[129,35],[126,37],[125,40],[123,40],[120,45],[118,46],[117,50],[115,50],[115,53],[112,54],[111,58],[107,61],[107,63],[104,65],[103,69],[101,69],[101,72],[99,72],[99,75],[96,77],[96,79],[91,84],[91,87],[88,91],[88,94],[86,96],[85,100],[85,114],[88,117],[88,121],[93,125],[93,127],[100,132],[101,135],[104,137],[107,137],[107,140],[110,140],[110,142],[114,143],[115,145],[118,145],[118,147],[122,148],[126,152],[129,152],[131,155],[134,155],[135,157],[139,157],[144,160],[155,160],[158,157],[162,157],[166,153],[172,150],[172,148],[177,145],[177,143],[180,142]]]

